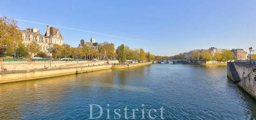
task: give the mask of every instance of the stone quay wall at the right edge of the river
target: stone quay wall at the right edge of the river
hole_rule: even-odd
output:
[[[228,63],[228,77],[256,99],[256,65]]]

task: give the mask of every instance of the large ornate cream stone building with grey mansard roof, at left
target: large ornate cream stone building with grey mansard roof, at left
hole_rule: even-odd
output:
[[[37,42],[40,46],[40,51],[48,52],[48,48],[53,47],[53,44],[62,45],[64,38],[61,36],[61,32],[58,28],[46,26],[45,35],[40,34],[37,28],[27,28],[26,30],[20,30],[22,34],[22,39],[24,39],[23,44],[30,44],[32,41]]]

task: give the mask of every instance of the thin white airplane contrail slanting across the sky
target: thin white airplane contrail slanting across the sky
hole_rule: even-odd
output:
[[[13,18],[13,19],[15,19],[15,18]],[[35,23],[35,24],[40,24],[40,25],[51,25],[51,24],[40,23],[40,22],[35,22],[35,21],[30,21],[30,20],[25,20],[25,19],[15,19],[15,20],[24,21],[24,22],[29,22],[29,23]],[[53,25],[52,25],[52,26],[53,26]],[[54,25],[54,26],[56,26],[56,27],[61,27],[61,28],[66,28],[66,29],[70,29],[70,30],[81,31],[81,32],[88,32],[88,33],[94,33],[94,34],[109,36],[109,37],[115,37],[115,38],[129,39],[129,40],[135,40],[135,41],[144,41],[144,42],[154,42],[154,41],[143,40],[143,39],[126,38],[126,37],[121,37],[121,36],[115,36],[115,35],[110,35],[110,34],[104,34],[104,33],[100,33],[100,32],[86,31],[86,30],[81,30],[81,29],[76,29],[76,28],[71,28],[71,27],[65,27],[65,26],[59,26],[59,25]]]

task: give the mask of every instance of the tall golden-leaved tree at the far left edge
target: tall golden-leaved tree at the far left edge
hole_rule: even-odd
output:
[[[21,33],[14,19],[0,17],[0,48],[10,49],[13,53],[22,43]]]

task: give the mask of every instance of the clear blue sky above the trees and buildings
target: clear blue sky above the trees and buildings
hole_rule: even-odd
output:
[[[94,37],[161,56],[213,46],[256,49],[256,0],[2,0],[0,16],[38,22],[18,25],[42,34],[44,24],[84,30],[59,27],[73,47]]]

